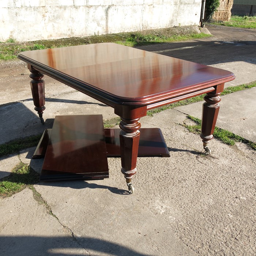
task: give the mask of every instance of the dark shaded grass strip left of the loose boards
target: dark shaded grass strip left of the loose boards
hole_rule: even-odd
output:
[[[42,135],[33,135],[0,145],[0,157],[14,154],[29,147],[37,146]]]

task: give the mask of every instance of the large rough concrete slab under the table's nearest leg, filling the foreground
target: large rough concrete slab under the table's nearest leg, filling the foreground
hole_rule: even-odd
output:
[[[162,128],[171,157],[139,158],[133,195],[120,158],[108,159],[110,178],[103,181],[35,185],[90,255],[252,255],[255,151],[215,139],[206,157],[182,120],[176,110],[142,120],[143,127]]]

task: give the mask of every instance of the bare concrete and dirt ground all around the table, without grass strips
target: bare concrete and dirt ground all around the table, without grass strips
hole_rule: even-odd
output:
[[[140,48],[230,70],[236,80],[226,86],[256,80],[256,30],[208,29],[214,37]],[[25,65],[0,65],[1,144],[42,133],[59,114],[115,117],[110,107],[46,77],[43,127]],[[223,96],[218,126],[256,142],[255,94],[252,88]],[[120,158],[109,158],[109,179],[40,182],[39,198],[28,188],[0,198],[1,255],[255,255],[255,150],[214,139],[204,156],[199,136],[182,126],[192,123],[186,114],[200,117],[201,105],[141,118],[142,127],[161,128],[171,157],[139,158],[132,195]],[[1,158],[0,177],[20,161],[40,172],[43,160],[31,159],[33,152]]]

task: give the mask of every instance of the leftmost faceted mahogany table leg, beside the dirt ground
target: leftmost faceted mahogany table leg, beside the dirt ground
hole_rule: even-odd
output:
[[[29,67],[31,74],[29,75],[32,80],[30,81],[30,87],[32,91],[35,110],[37,111],[41,123],[44,124],[43,112],[45,110],[45,82],[42,79],[44,75],[35,70],[33,67]]]

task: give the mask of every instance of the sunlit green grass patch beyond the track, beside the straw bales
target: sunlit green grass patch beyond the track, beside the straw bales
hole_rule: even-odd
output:
[[[229,21],[212,22],[211,24],[256,29],[256,16],[231,16]]]

